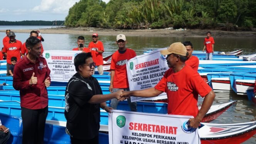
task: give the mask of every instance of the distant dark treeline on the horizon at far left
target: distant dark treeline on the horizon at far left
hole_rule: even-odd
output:
[[[61,25],[64,21],[24,20],[20,22],[0,21],[0,25]]]

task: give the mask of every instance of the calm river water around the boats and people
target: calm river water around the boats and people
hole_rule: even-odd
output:
[[[1,26],[0,29],[12,29],[15,32],[15,29],[33,29],[33,28],[51,28],[51,26],[17,26],[17,27],[6,27]],[[29,33],[15,33],[16,39],[25,42],[29,37]],[[77,47],[76,40],[79,35],[71,34],[45,34],[41,33],[44,37],[44,50],[71,50],[74,47]],[[0,46],[2,46],[2,39],[5,37],[5,33],[0,32]],[[212,34],[214,36],[214,33]],[[91,36],[85,35],[85,45],[87,46],[91,41]],[[104,44],[103,56],[108,56],[113,54],[118,47],[115,44],[116,36],[100,36]],[[195,50],[202,50],[204,45],[204,38],[202,37],[136,37],[136,36],[127,36],[126,47],[132,48],[136,51],[137,55],[143,54],[143,51],[149,49],[158,49],[163,47],[168,47],[173,42],[183,42],[191,41],[194,45]],[[244,52],[242,55],[249,55],[256,53],[256,39],[250,37],[216,37],[214,38],[215,51],[224,51],[231,52],[237,49],[243,49]],[[199,97],[199,105],[202,103],[202,98]],[[256,104],[249,101],[247,96],[237,95],[234,92],[216,92],[216,99],[214,104],[222,104],[224,102],[229,102],[232,100],[237,100],[237,103],[232,105],[227,111],[225,111],[221,116],[211,123],[239,123],[239,122],[250,122],[256,121]],[[251,137],[244,144],[255,144],[256,135]]]

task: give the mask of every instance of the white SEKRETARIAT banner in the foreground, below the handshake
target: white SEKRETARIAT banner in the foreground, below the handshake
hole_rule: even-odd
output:
[[[108,114],[109,144],[200,144],[198,129],[184,128],[190,118],[114,110]]]

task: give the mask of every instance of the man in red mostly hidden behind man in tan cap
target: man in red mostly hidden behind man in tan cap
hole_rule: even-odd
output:
[[[192,55],[192,52],[194,51],[192,43],[190,41],[185,41],[182,44],[184,44],[187,49],[187,53],[189,54],[187,60],[185,61],[185,64],[189,65],[197,72],[199,66],[199,59],[196,56]]]

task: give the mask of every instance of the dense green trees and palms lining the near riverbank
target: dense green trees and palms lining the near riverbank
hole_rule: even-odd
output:
[[[68,27],[214,28],[256,26],[256,1],[80,0],[69,9]]]

